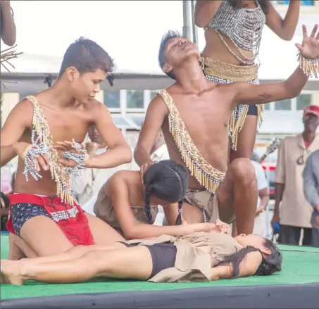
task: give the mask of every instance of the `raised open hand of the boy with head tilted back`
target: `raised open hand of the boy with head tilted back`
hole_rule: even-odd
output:
[[[308,37],[307,28],[302,26],[304,39],[302,44],[296,44],[296,48],[299,49],[301,55],[305,58],[315,59],[319,58],[319,32],[318,25],[313,27],[310,37]]]

